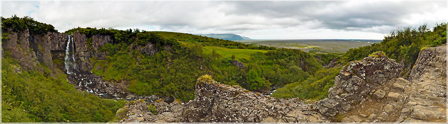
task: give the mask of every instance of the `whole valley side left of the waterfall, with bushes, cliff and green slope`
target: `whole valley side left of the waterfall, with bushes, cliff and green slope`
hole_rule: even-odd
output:
[[[53,26],[28,17],[1,20],[2,122],[107,122],[124,105],[68,84],[52,63]]]

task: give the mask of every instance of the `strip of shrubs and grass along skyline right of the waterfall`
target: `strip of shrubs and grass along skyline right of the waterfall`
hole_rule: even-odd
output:
[[[87,38],[92,37],[92,35],[95,34],[101,34],[101,35],[110,35],[113,38],[113,43],[134,43],[138,45],[145,45],[149,41],[152,41],[157,46],[165,45],[168,43],[177,43],[173,41],[180,41],[184,43],[201,43],[204,46],[216,46],[216,47],[225,47],[225,48],[238,48],[238,49],[255,49],[255,50],[274,50],[275,47],[266,47],[266,46],[253,46],[253,45],[246,45],[243,43],[228,41],[228,40],[222,40],[222,39],[215,39],[215,38],[209,38],[209,37],[203,37],[203,36],[197,36],[192,34],[184,34],[184,33],[174,33],[174,32],[147,32],[147,31],[140,31],[139,29],[128,29],[128,30],[116,30],[116,29],[97,29],[97,28],[73,28],[70,29],[64,33],[70,34],[80,32],[87,36]],[[162,38],[163,37],[163,38]]]

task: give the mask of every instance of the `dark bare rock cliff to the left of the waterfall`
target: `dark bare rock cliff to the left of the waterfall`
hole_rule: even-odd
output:
[[[67,40],[67,35],[57,32],[32,34],[28,29],[21,32],[8,30],[9,39],[4,42],[3,49],[8,51],[12,58],[17,59],[23,69],[42,70],[40,66],[37,66],[40,63],[57,72],[53,64],[52,52],[65,50],[66,41],[64,40]]]

